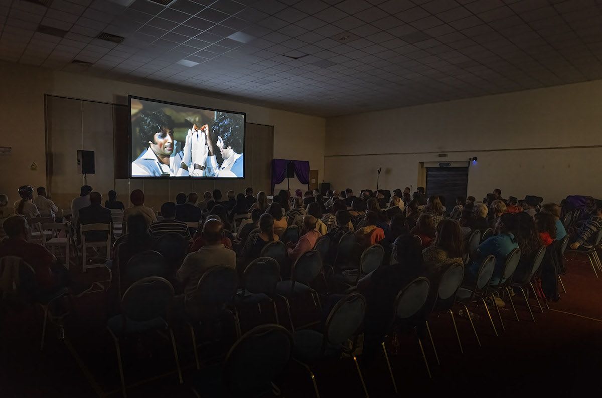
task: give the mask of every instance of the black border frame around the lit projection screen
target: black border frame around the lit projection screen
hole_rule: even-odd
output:
[[[134,161],[134,159],[132,159],[132,99],[148,101],[148,102],[164,103],[166,105],[184,106],[185,108],[201,109],[203,111],[225,112],[225,113],[243,115],[243,148],[244,148],[243,154],[246,152],[246,149],[247,149],[247,112],[226,111],[225,109],[217,109],[217,108],[204,108],[203,106],[195,106],[195,105],[188,105],[185,103],[169,102],[169,101],[163,101],[163,100],[158,100],[158,99],[153,99],[153,98],[132,96],[131,94],[128,94],[128,117],[129,117],[129,123],[128,123],[128,170],[129,170],[128,176],[129,177],[128,178],[129,179],[134,179],[134,180],[195,180],[195,181],[244,180],[244,176],[243,177],[132,176],[132,162]],[[246,158],[246,156],[244,156],[243,157],[243,170],[246,170],[246,162],[247,162],[247,158]]]

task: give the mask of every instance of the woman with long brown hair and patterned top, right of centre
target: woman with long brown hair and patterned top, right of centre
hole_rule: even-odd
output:
[[[422,252],[424,266],[429,275],[436,280],[447,266],[462,263],[464,255],[464,237],[458,221],[443,219],[436,228],[435,242]]]

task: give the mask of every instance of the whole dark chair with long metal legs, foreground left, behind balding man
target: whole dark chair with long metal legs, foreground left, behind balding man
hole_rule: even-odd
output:
[[[121,360],[120,341],[129,335],[141,335],[154,331],[169,331],[173,355],[178,370],[178,380],[182,384],[182,372],[178,360],[178,349],[173,331],[167,323],[167,311],[173,300],[173,287],[160,277],[143,278],[129,287],[121,299],[122,313],[111,317],[107,329],[113,337],[117,350],[117,363],[123,396],[126,396],[125,379]]]

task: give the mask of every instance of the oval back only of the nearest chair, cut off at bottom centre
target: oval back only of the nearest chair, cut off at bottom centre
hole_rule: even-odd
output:
[[[250,397],[272,391],[272,382],[287,367],[293,336],[280,325],[246,332],[226,355],[223,385],[230,396]]]

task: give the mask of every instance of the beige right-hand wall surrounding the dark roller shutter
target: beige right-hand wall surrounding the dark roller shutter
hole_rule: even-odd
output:
[[[330,118],[325,179],[337,189],[424,185],[420,162],[468,161],[468,194],[602,197],[602,81]],[[378,155],[385,153],[388,155]],[[447,158],[438,158],[447,153]]]

